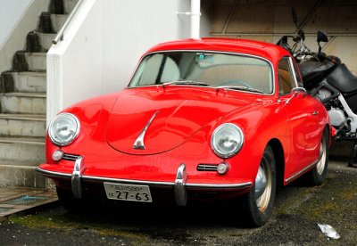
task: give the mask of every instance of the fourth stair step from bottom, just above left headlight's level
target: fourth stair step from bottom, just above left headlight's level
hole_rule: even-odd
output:
[[[0,103],[3,113],[46,114],[46,94],[5,93]]]

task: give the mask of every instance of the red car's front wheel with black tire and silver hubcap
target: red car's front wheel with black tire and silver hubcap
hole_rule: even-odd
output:
[[[259,182],[259,176],[266,178],[266,184]],[[262,179],[260,179],[262,180]],[[257,186],[262,189],[257,190]],[[275,193],[277,186],[277,171],[274,152],[268,145],[262,155],[261,166],[258,170],[255,183],[249,193],[243,196],[244,215],[247,225],[261,226],[264,225],[271,217],[274,206]]]

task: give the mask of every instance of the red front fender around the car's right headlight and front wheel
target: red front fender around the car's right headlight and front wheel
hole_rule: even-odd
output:
[[[261,164],[262,154],[272,139],[277,139],[283,146],[284,155],[289,148],[289,124],[286,111],[273,100],[250,105],[245,111],[231,112],[220,123],[229,122],[237,125],[245,135],[245,143],[236,156],[228,159],[231,165],[238,166],[237,172],[244,172],[252,182]],[[238,174],[236,174],[238,175]]]

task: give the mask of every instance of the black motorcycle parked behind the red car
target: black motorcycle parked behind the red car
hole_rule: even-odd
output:
[[[297,25],[294,8],[292,15],[297,34],[281,37],[277,45],[294,56],[303,77],[303,86],[324,104],[331,125],[336,128],[336,141],[353,141],[349,166],[357,168],[357,77],[338,57],[322,53],[320,42],[328,42],[324,32],[317,33],[319,52],[311,52],[303,43],[305,35]],[[288,45],[289,38],[293,39],[292,47]]]

